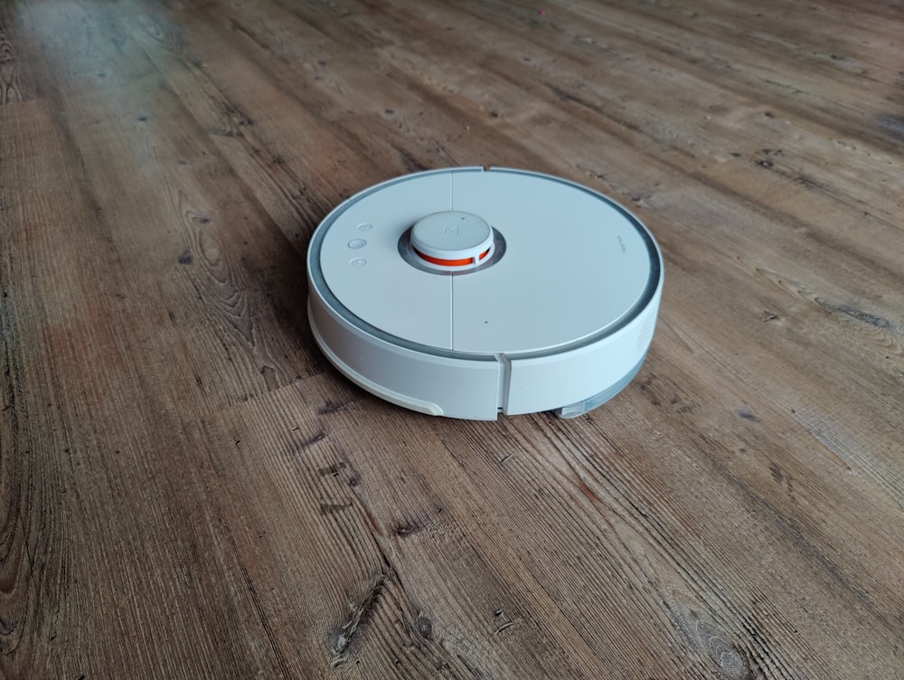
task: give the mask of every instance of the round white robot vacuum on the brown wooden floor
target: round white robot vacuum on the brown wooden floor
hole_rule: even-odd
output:
[[[326,215],[307,252],[317,345],[412,411],[573,418],[621,391],[653,339],[663,259],[606,196],[506,168],[404,175]]]

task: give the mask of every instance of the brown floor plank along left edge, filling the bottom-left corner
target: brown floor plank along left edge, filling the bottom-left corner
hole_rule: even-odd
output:
[[[21,227],[4,223],[5,659],[43,676],[153,667],[199,677],[211,659],[241,668],[245,656],[235,650],[244,643],[235,636],[248,628],[247,607],[236,609],[225,590],[205,594],[221,586],[192,575],[199,568],[211,573],[203,556],[213,536],[204,529],[176,535],[175,527],[197,525],[203,515],[193,516],[194,487],[166,472],[174,465],[168,455],[184,439],[130,354],[134,326],[123,323],[123,303],[112,292],[124,278],[116,250],[84,194],[80,164],[55,113],[35,102],[28,114],[7,118],[4,127],[14,131],[4,140],[40,140],[42,151],[4,165],[14,190],[12,223]],[[36,192],[36,177],[55,181],[45,191],[37,183]],[[81,247],[63,247],[72,242]],[[32,257],[22,261],[22,252]],[[110,291],[96,288],[98,280]],[[20,389],[28,383],[43,389]],[[136,411],[155,417],[136,419]],[[190,497],[180,499],[180,490]],[[195,557],[186,562],[189,554]],[[149,599],[137,599],[141,592]],[[208,609],[217,612],[211,627],[202,625]],[[130,638],[171,653],[124,645]],[[67,648],[74,654],[61,655]]]

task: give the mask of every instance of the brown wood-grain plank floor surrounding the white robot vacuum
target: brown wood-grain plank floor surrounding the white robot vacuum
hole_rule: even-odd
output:
[[[904,677],[904,9],[5,0],[0,677]],[[578,420],[318,351],[304,254],[423,168],[664,251]]]

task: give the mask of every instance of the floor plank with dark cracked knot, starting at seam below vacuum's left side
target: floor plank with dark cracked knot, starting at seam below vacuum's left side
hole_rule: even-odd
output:
[[[552,673],[565,662],[570,675],[582,676],[574,660],[566,662],[549,644],[558,631],[548,622],[523,622],[518,637],[532,641],[530,658],[518,653],[521,646],[501,646],[495,637],[508,619],[494,611],[504,606],[511,616],[523,609],[517,601],[523,588],[501,582],[484,563],[458,518],[457,505],[466,499],[449,498],[422,477],[415,460],[441,463],[435,458],[445,453],[440,442],[416,442],[420,430],[402,434],[410,444],[401,448],[398,436],[373,439],[373,426],[391,419],[391,411],[364,406],[360,393],[337,393],[336,387],[333,378],[297,383],[203,423],[224,513],[240,527],[240,541],[262,552],[250,565],[251,579],[285,580],[295,593],[295,607],[287,608],[279,591],[262,605],[289,668],[360,665],[355,672],[368,677],[396,669],[468,676],[488,665],[517,674],[539,664]],[[266,430],[259,428],[261,420],[270,423]],[[400,458],[383,458],[385,447]],[[444,468],[466,485],[458,487],[463,491],[471,483],[454,458],[445,458]],[[247,496],[254,505],[227,506],[226,499],[245,496],[240,489],[251,478],[266,486]],[[275,521],[286,514],[319,521]],[[299,551],[306,554],[304,563],[297,562]],[[465,590],[483,594],[497,609],[443,606]],[[552,603],[547,607],[554,616]],[[574,656],[588,663],[580,640],[570,644],[578,646]]]

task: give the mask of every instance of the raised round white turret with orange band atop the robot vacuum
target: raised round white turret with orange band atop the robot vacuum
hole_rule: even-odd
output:
[[[471,269],[493,254],[493,230],[472,213],[432,213],[411,229],[411,248],[435,269]]]

